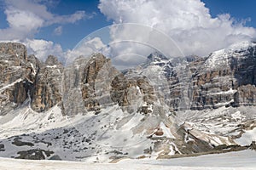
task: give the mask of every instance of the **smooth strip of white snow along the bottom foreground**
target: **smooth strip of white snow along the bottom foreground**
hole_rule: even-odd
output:
[[[225,154],[176,158],[171,160],[123,160],[119,163],[88,163],[76,161],[32,161],[0,158],[1,170],[20,169],[255,169],[256,151],[243,150]]]

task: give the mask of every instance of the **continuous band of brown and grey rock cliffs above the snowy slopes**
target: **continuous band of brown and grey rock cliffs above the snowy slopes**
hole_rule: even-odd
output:
[[[147,114],[156,102],[174,111],[256,105],[255,51],[250,43],[207,58],[154,53],[138,70],[118,71],[102,54],[64,68],[52,55],[42,62],[20,43],[0,43],[0,114],[23,104],[38,112],[62,105],[68,115],[111,105]]]

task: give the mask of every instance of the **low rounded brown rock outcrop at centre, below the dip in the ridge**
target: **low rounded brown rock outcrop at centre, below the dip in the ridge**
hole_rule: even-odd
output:
[[[113,78],[110,95],[114,103],[130,113],[151,113],[156,101],[147,77],[125,77],[122,73]]]

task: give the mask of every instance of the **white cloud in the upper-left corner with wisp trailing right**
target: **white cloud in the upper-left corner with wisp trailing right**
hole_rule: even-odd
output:
[[[76,11],[68,15],[52,14],[47,6],[38,0],[6,0],[4,3],[4,14],[6,14],[9,27],[0,30],[0,40],[24,40],[32,38],[41,27],[53,24],[73,24],[90,18],[85,11]],[[59,28],[59,32],[60,30]]]

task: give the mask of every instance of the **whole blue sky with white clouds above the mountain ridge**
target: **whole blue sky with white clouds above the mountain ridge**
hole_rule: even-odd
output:
[[[23,42],[29,54],[43,60],[49,54],[67,59],[104,48],[105,54],[130,62],[125,54],[143,56],[155,48],[167,53],[172,42],[180,52],[173,55],[206,56],[255,39],[255,6],[254,0],[0,0],[0,41]],[[113,27],[125,23],[140,26]],[[105,26],[108,35],[98,31]],[[154,40],[152,29],[161,32],[153,33]],[[80,42],[94,31],[100,35]],[[109,46],[127,35],[133,43]],[[166,37],[172,42],[161,42]],[[79,42],[86,48],[75,48]]]

